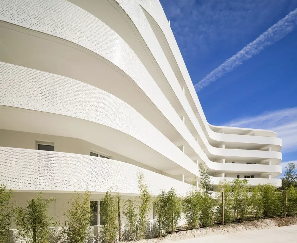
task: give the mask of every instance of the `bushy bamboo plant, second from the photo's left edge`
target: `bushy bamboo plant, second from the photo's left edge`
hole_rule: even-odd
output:
[[[15,225],[18,229],[18,237],[28,243],[46,243],[53,218],[48,216],[48,208],[54,199],[42,199],[42,193],[36,198],[29,199],[26,209],[16,207]]]

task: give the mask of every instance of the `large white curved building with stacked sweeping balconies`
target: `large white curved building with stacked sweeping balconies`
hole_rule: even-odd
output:
[[[206,121],[158,0],[3,0],[0,20],[0,184],[20,203],[137,194],[139,170],[183,194],[198,163],[214,189],[281,186],[274,132]]]

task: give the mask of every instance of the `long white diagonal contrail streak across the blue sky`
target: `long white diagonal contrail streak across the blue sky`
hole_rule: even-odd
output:
[[[276,24],[268,28],[263,34],[258,36],[253,42],[246,45],[242,50],[227,59],[224,63],[207,74],[202,80],[194,85],[195,90],[199,91],[203,87],[216,81],[228,72],[231,72],[243,61],[248,60],[252,56],[260,53],[266,46],[272,45],[278,40],[290,33],[297,24],[297,8],[290,12],[285,18],[279,20]]]

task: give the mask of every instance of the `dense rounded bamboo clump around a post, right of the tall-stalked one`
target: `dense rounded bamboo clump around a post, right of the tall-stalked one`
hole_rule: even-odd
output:
[[[174,232],[175,225],[181,218],[181,200],[174,188],[171,188],[168,193],[165,190],[159,193],[155,200],[155,214],[159,236],[165,234],[166,231]]]

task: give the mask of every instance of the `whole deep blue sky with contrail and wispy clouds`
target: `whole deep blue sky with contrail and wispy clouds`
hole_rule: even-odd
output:
[[[297,1],[160,2],[208,122],[276,131],[297,163]]]

